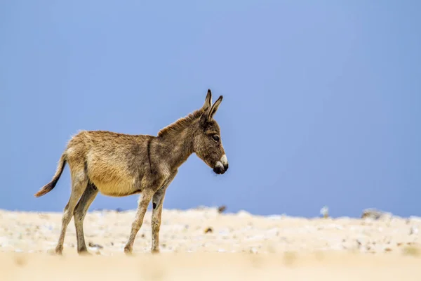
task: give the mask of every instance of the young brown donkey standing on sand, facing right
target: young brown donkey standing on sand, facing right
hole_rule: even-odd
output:
[[[220,126],[213,119],[221,102],[222,96],[212,104],[209,89],[199,110],[161,129],[157,136],[110,131],[79,131],[72,136],[52,181],[34,195],[40,197],[53,190],[65,164],[69,164],[72,192],[62,215],[55,254],[62,254],[66,229],[72,216],[77,251],[79,254],[90,254],[83,235],[83,219],[98,192],[111,197],[140,194],[131,233],[124,247],[126,254],[132,253],[135,237],[152,200],[151,251],[159,253],[163,198],[178,168],[192,153],[196,153],[215,174],[224,174],[228,169]]]

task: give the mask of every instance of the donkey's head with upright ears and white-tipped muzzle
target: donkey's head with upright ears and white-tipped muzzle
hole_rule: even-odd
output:
[[[203,114],[196,124],[193,150],[216,174],[224,174],[228,169],[228,160],[222,146],[220,127],[213,119],[218,110],[222,96],[212,105],[212,93],[208,90],[205,103],[201,108]]]

